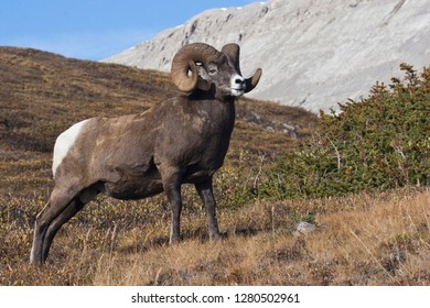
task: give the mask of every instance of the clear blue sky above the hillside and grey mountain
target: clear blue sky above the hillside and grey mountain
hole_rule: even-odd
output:
[[[2,0],[0,45],[98,61],[213,8],[255,0]]]

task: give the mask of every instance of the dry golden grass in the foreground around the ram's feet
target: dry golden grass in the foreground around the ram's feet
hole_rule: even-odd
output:
[[[58,239],[63,260],[42,273],[55,270],[66,284],[88,285],[429,285],[429,205],[430,191],[412,188],[260,201],[221,212],[228,237],[216,243],[206,239],[202,213],[185,217],[187,239],[175,246],[166,244],[166,218],[143,229],[118,224],[98,246],[92,243],[97,230],[66,227]],[[293,235],[294,208],[316,212],[318,230]],[[65,242],[76,237],[78,248]],[[25,264],[17,273],[21,266],[35,275]]]

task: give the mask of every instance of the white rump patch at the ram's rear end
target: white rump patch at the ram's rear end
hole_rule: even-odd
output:
[[[73,146],[76,138],[79,135],[82,129],[88,120],[84,120],[72,125],[68,130],[64,131],[58,135],[54,146],[54,157],[52,161],[52,174],[55,176],[56,168],[66,157],[68,150]]]

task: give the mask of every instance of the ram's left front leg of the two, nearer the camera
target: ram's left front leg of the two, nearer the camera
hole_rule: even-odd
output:
[[[174,244],[181,241],[181,179],[182,174],[178,169],[166,168],[162,173],[163,189],[172,207],[172,221],[169,240],[170,244]]]

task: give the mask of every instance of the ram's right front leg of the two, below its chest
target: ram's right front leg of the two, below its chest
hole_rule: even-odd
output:
[[[219,229],[218,221],[216,220],[216,202],[214,198],[214,193],[212,188],[212,177],[208,177],[202,183],[195,184],[198,196],[202,198],[207,213],[207,227],[209,230],[211,240],[219,240]]]

